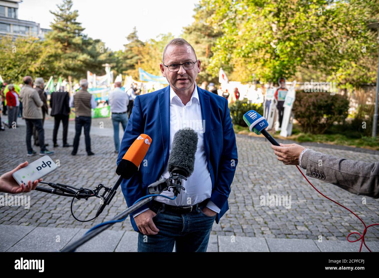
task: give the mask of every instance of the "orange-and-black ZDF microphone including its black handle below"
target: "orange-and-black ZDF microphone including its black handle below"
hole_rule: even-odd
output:
[[[113,184],[111,189],[105,189],[102,195],[102,204],[95,214],[96,217],[103,212],[106,205],[109,205],[114,195],[116,195],[116,189],[120,186],[123,179],[130,179],[133,174],[138,171],[139,164],[141,164],[142,159],[145,157],[147,150],[151,144],[150,136],[146,134],[141,134],[129,147],[125,155],[122,157],[119,165],[116,169],[116,174],[119,175],[116,182]]]

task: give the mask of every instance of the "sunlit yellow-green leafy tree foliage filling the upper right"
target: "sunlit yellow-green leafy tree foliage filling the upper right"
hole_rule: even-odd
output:
[[[373,80],[370,65],[377,44],[366,23],[377,16],[377,3],[202,0],[201,6],[215,11],[207,23],[223,31],[212,48],[208,72],[216,76],[222,67],[230,80],[245,82],[254,73],[267,81],[298,72],[338,84]]]

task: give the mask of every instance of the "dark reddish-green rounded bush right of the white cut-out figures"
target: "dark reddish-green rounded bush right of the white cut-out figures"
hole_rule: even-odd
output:
[[[323,134],[334,122],[344,123],[349,100],[323,92],[297,92],[293,113],[304,133]]]

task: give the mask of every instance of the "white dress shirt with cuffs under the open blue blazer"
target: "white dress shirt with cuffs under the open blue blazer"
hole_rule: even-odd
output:
[[[182,186],[185,187],[185,191],[181,191],[180,194],[175,198],[175,200],[169,200],[164,197],[155,197],[154,199],[172,206],[191,206],[204,201],[211,197],[212,192],[212,181],[208,170],[207,158],[204,151],[204,131],[205,126],[203,125],[203,119],[201,115],[201,106],[199,102],[199,94],[197,93],[197,86],[195,83],[195,89],[192,93],[191,100],[184,105],[182,100],[174,92],[170,86],[170,148],[174,139],[175,133],[183,129],[183,127],[191,127],[197,132],[197,150],[195,153],[195,167],[191,176],[187,180],[183,180]],[[161,178],[168,178],[170,173],[166,169],[164,170]],[[174,197],[172,192],[163,191],[161,195],[168,196],[170,198]],[[215,205],[212,201],[208,201],[207,208],[220,212],[220,208]],[[146,211],[140,211],[133,214],[133,217],[138,216],[138,214]]]

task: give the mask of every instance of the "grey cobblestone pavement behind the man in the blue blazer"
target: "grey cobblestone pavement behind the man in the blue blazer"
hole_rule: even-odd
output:
[[[103,124],[101,124],[103,122]],[[0,133],[0,173],[7,172],[19,163],[32,162],[39,158],[26,156],[25,122],[16,130]],[[100,128],[102,125],[103,128]],[[62,127],[61,127],[62,128]],[[102,183],[111,187],[116,180],[116,153],[113,145],[113,129],[110,119],[93,119],[91,127],[92,151],[85,152],[84,135],[81,135],[78,154],[71,156],[71,148],[52,148],[52,119],[45,121],[45,138],[48,147],[55,151],[52,159],[60,160],[58,170],[45,177],[45,181],[61,182],[76,187],[94,189]],[[61,131],[58,144],[62,145]],[[74,138],[74,122],[69,123],[69,143]],[[229,196],[230,209],[219,224],[214,223],[212,234],[220,236],[246,236],[265,238],[344,240],[352,231],[362,233],[363,224],[350,212],[319,195],[301,176],[296,167],[283,165],[276,160],[271,145],[264,139],[237,135],[238,166]],[[304,144],[305,145],[305,144]],[[331,155],[367,162],[379,160],[379,155],[350,150],[312,147]],[[36,151],[36,147],[34,147]],[[348,193],[332,184],[315,179],[311,182],[328,197],[352,209],[366,225],[379,222],[379,200]],[[289,195],[291,208],[284,206],[260,206],[260,196]],[[2,194],[4,195],[4,194]],[[0,206],[0,224],[58,228],[91,228],[97,223],[111,219],[126,208],[124,197],[119,192],[110,206],[94,221],[81,223],[70,214],[71,198],[33,191],[30,193],[30,209],[16,206]],[[90,219],[99,206],[99,199],[74,202],[74,213],[79,219]],[[127,219],[111,227],[112,230],[132,231]],[[379,241],[379,229],[370,227],[366,241]]]

